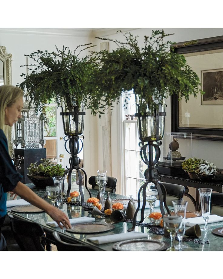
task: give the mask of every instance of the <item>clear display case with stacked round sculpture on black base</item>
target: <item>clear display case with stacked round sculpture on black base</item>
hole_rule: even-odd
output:
[[[157,169],[161,174],[185,173],[182,162],[192,156],[192,133],[164,133]]]

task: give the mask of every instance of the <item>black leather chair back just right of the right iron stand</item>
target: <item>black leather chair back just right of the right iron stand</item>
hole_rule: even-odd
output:
[[[184,197],[185,187],[179,184],[161,182],[166,189],[166,204],[173,206],[172,200],[182,200]]]

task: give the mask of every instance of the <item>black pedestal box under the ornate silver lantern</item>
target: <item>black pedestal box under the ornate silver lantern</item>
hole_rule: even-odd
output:
[[[21,161],[20,168],[17,169],[18,173],[21,173],[25,183],[32,183],[27,177],[28,173],[28,166],[30,163],[38,162],[40,163],[41,158],[46,158],[46,149],[45,148],[34,148],[34,149],[19,149],[15,148],[15,158],[20,156],[20,158],[23,156],[24,159]]]

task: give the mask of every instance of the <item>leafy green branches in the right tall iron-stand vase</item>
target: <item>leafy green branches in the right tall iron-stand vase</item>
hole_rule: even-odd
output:
[[[150,37],[144,36],[141,48],[137,36],[129,32],[122,34],[125,42],[96,37],[114,42],[117,49],[93,52],[100,67],[88,80],[88,92],[92,98],[88,108],[92,114],[105,113],[106,106],[112,108],[113,102],[119,102],[124,91],[132,89],[138,96],[137,104],[142,115],[146,115],[148,107],[155,108],[162,99],[174,93],[179,99],[185,97],[186,101],[191,94],[196,97],[199,92],[204,93],[197,74],[187,65],[184,55],[172,51],[173,42],[164,41],[166,36],[173,34],[152,31]]]

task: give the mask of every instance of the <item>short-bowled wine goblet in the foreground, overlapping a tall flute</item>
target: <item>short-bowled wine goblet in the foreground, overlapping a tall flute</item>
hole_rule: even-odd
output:
[[[173,240],[179,229],[182,227],[183,217],[181,215],[164,215],[163,227],[169,233],[171,239],[171,250],[174,251]]]

